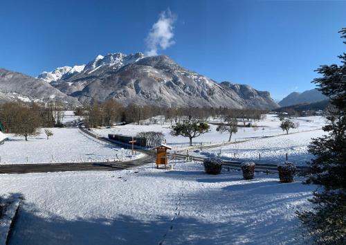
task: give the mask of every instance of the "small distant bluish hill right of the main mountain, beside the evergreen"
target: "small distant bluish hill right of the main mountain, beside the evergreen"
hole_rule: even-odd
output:
[[[317,89],[311,89],[311,90],[304,91],[302,93],[298,93],[298,92],[290,93],[288,96],[286,96],[279,102],[279,105],[281,107],[287,107],[290,105],[318,102],[318,101],[327,100],[327,99],[328,99],[327,96],[324,96]]]

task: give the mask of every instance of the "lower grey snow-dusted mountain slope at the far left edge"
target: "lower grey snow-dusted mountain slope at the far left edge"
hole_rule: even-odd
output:
[[[0,102],[22,100],[24,102],[60,101],[66,106],[80,105],[76,98],[66,96],[44,80],[0,69]]]

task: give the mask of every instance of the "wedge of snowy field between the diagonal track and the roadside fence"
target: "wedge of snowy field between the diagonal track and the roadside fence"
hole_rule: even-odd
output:
[[[289,161],[293,161],[296,165],[306,165],[307,161],[313,158],[313,155],[308,152],[311,138],[320,137],[324,134],[325,131],[318,129],[270,138],[257,138],[242,143],[206,149],[206,151],[193,153],[193,155],[210,156],[210,154],[217,154],[227,160],[277,164],[286,161],[286,154],[288,154]]]

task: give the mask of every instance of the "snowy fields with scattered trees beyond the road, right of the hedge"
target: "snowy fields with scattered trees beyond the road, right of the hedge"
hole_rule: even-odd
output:
[[[208,156],[210,154],[221,154],[225,159],[237,159],[240,161],[256,161],[261,163],[280,163],[286,160],[286,153],[289,161],[297,165],[305,165],[313,157],[307,152],[311,138],[322,136],[322,126],[325,125],[325,118],[321,116],[298,117],[292,119],[294,123],[299,123],[299,127],[291,129],[289,135],[280,128],[280,119],[273,115],[267,114],[266,119],[255,123],[254,127],[239,127],[237,134],[233,134],[231,142],[235,144],[225,145],[205,149],[197,156]],[[217,122],[218,120],[211,120]],[[194,138],[194,143],[198,147],[215,143],[227,143],[229,135],[216,131],[217,125],[210,124],[210,131],[206,134]],[[188,146],[188,138],[182,136],[172,136],[170,134],[170,124],[155,125],[124,125],[116,126],[111,129],[93,129],[95,134],[107,137],[108,134],[123,134],[136,136],[140,131],[162,131],[165,134],[167,145],[173,147],[172,151],[185,152]],[[268,137],[274,136],[274,137]],[[263,138],[268,137],[268,138]],[[238,143],[239,141],[245,141]],[[261,160],[260,155],[261,154]]]

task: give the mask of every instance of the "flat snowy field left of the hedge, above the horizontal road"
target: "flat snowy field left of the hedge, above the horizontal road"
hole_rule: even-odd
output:
[[[82,133],[77,128],[53,128],[48,140],[44,129],[41,134],[24,140],[24,137],[6,134],[8,140],[0,145],[1,164],[7,163],[73,163],[91,161],[120,161],[121,148],[103,143]],[[125,161],[143,154],[131,156],[123,150]]]

